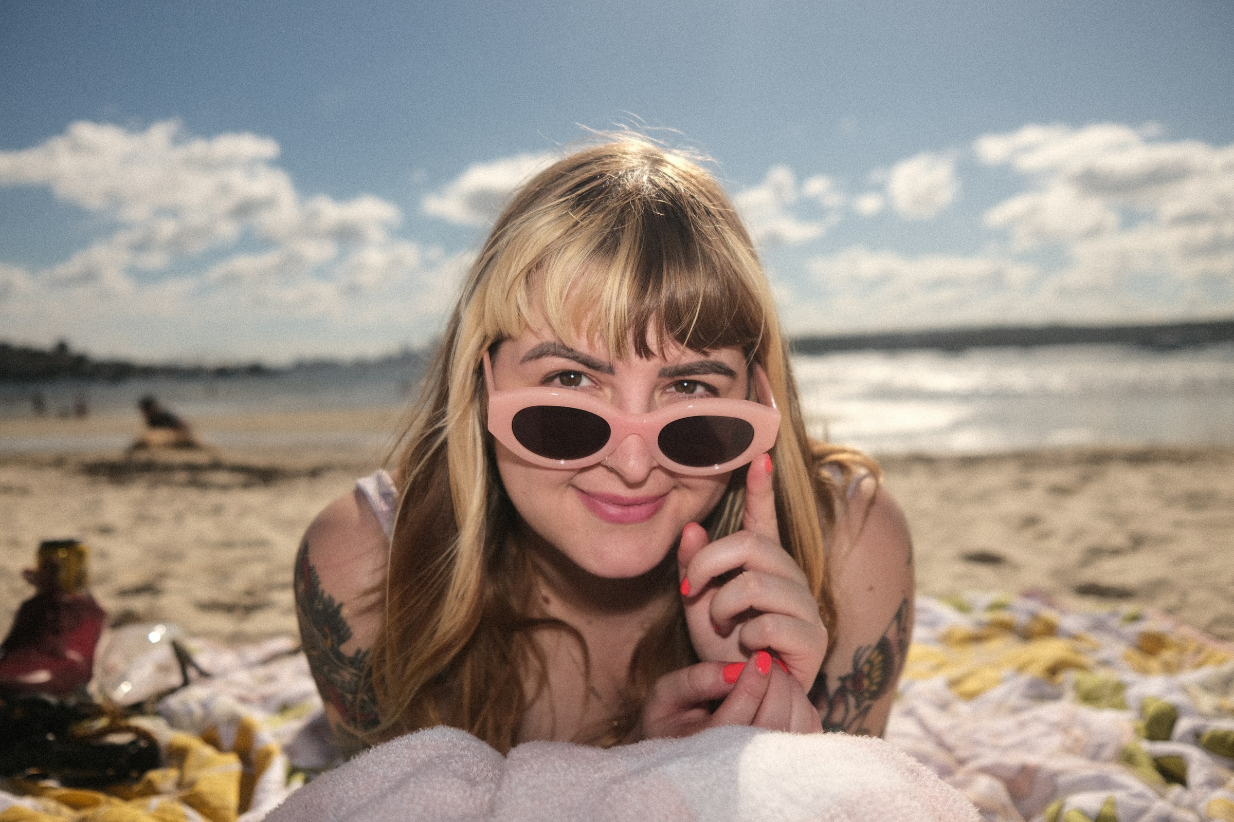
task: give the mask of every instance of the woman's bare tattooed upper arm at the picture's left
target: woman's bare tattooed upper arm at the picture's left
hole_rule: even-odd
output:
[[[326,507],[305,532],[295,567],[296,617],[326,718],[348,755],[378,721],[369,652],[381,626],[387,542],[359,490]]]

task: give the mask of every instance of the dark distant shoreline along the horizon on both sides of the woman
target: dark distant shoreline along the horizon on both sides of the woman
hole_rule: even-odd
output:
[[[1153,325],[995,325],[917,332],[802,335],[790,340],[793,354],[835,351],[935,349],[963,351],[975,348],[1041,345],[1137,345],[1157,350],[1193,348],[1234,341],[1234,319]],[[142,364],[128,360],[95,360],[74,351],[67,341],[38,349],[0,341],[0,382],[52,382],[83,380],[123,382],[137,377],[238,377],[270,376],[301,368],[373,367],[406,364],[422,367],[423,350],[405,349],[376,360],[313,360],[292,366],[262,362],[233,365]]]

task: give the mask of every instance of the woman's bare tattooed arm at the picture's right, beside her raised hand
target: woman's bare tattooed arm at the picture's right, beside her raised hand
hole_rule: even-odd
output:
[[[900,507],[871,477],[849,495],[828,556],[837,626],[810,698],[823,730],[880,736],[913,630],[913,551]]]

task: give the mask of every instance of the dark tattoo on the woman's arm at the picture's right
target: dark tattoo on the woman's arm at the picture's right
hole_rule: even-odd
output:
[[[891,624],[874,645],[863,645],[853,652],[853,670],[835,683],[828,684],[826,672],[818,672],[814,686],[810,689],[810,701],[818,706],[824,731],[843,731],[875,736],[866,727],[870,709],[900,678],[908,653],[908,622],[912,603],[905,599],[891,617]]]

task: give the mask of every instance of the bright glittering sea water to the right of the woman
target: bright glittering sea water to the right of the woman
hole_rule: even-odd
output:
[[[874,454],[1234,444],[1234,345],[859,351],[795,362],[811,433]]]

